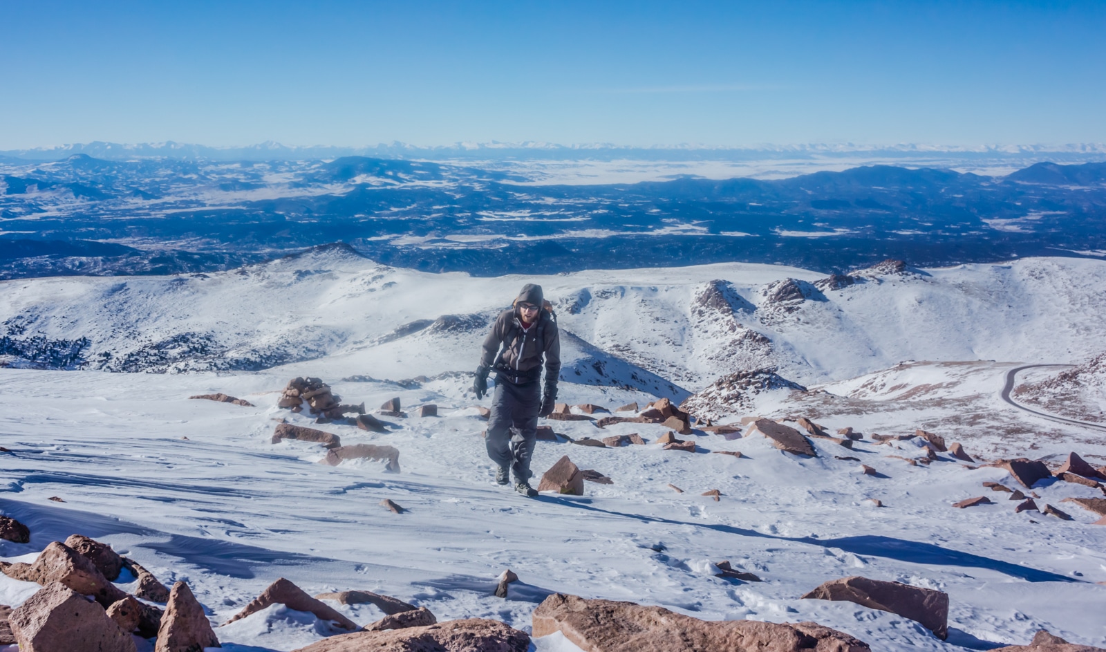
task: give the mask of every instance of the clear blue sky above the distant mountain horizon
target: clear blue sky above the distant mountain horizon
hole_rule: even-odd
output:
[[[1106,142],[1106,2],[0,0],[0,149]]]

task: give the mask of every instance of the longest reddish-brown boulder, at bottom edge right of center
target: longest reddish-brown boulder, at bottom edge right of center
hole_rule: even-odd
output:
[[[705,621],[634,602],[553,593],[532,617],[534,638],[560,631],[589,652],[865,652],[848,634],[813,622]]]

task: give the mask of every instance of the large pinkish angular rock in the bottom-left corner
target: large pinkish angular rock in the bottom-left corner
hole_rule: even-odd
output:
[[[20,652],[135,652],[135,641],[107,617],[61,582],[49,582],[11,612],[12,638]],[[74,646],[79,643],[79,646]]]

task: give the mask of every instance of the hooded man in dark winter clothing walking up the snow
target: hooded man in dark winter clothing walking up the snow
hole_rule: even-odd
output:
[[[542,358],[545,392],[540,382]],[[505,485],[513,470],[514,489],[536,496],[530,486],[530,457],[538,437],[538,417],[553,412],[561,374],[561,335],[541,286],[523,286],[514,307],[500,313],[491,327],[472,385],[477,399],[488,393],[488,374],[492,371],[495,390],[486,444],[488,456],[499,465],[495,482]]]

